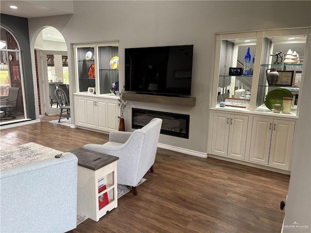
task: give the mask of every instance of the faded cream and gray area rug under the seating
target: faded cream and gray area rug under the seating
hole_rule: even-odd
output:
[[[59,150],[54,150],[49,147],[45,147],[34,142],[19,145],[16,147],[10,147],[0,150],[0,170],[22,164],[29,164],[35,161],[40,161],[48,158],[54,158],[55,155],[63,153]],[[146,179],[142,178],[138,183],[145,182]],[[118,183],[118,199],[123,195],[130,192],[131,186],[122,185]],[[77,225],[85,221],[88,217],[77,214]]]

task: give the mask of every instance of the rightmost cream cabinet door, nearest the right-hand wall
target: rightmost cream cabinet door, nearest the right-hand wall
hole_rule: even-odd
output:
[[[294,140],[295,122],[273,120],[269,166],[289,169]]]

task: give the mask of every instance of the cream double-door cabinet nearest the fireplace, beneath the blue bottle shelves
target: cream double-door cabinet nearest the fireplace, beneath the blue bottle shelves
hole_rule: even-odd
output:
[[[248,116],[213,113],[211,153],[234,159],[245,159]]]

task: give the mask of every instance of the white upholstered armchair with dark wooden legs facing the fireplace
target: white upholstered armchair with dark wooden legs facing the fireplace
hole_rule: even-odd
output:
[[[110,132],[109,142],[104,145],[87,144],[84,148],[119,157],[118,183],[132,186],[137,195],[139,181],[149,169],[153,172],[161,125],[162,119],[154,118],[134,132]]]

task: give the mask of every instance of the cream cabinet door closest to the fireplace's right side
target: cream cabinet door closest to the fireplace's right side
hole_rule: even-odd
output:
[[[213,114],[213,137],[211,153],[227,156],[230,114]]]

